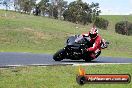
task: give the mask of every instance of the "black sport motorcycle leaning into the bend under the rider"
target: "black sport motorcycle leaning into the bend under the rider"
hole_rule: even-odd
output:
[[[101,48],[105,49],[108,47],[109,42],[102,39]],[[90,38],[88,36],[84,37],[82,35],[70,36],[66,41],[66,46],[60,49],[53,55],[55,61],[61,61],[63,59],[71,60],[85,60],[86,62],[92,61],[94,58],[90,56],[90,52],[86,52],[86,49],[92,47],[93,44],[90,43]],[[101,54],[101,51],[95,54],[97,58]]]

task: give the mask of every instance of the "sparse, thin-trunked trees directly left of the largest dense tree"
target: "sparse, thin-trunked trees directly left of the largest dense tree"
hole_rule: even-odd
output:
[[[59,16],[61,19],[62,13],[67,7],[67,1],[56,0],[49,2],[49,0],[41,0],[37,5],[40,7],[43,16],[48,14],[49,17],[58,19]]]

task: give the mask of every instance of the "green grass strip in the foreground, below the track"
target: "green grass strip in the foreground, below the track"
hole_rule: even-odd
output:
[[[76,83],[76,66],[16,67],[0,69],[0,88],[131,88],[129,84]],[[87,74],[130,74],[132,64],[83,66]]]

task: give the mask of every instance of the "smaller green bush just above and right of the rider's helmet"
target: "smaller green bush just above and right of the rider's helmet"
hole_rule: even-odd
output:
[[[96,27],[106,30],[109,25],[109,21],[103,18],[96,17],[94,24],[96,25]]]

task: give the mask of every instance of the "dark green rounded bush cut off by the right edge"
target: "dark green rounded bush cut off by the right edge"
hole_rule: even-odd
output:
[[[132,23],[128,21],[116,23],[115,32],[122,35],[132,35]]]

